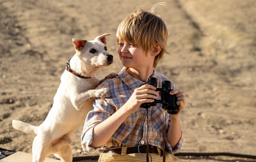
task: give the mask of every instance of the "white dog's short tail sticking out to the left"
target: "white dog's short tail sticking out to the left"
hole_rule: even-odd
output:
[[[34,125],[30,125],[24,122],[21,122],[19,120],[12,120],[12,126],[25,133],[35,133],[37,134],[38,132],[38,127]]]

